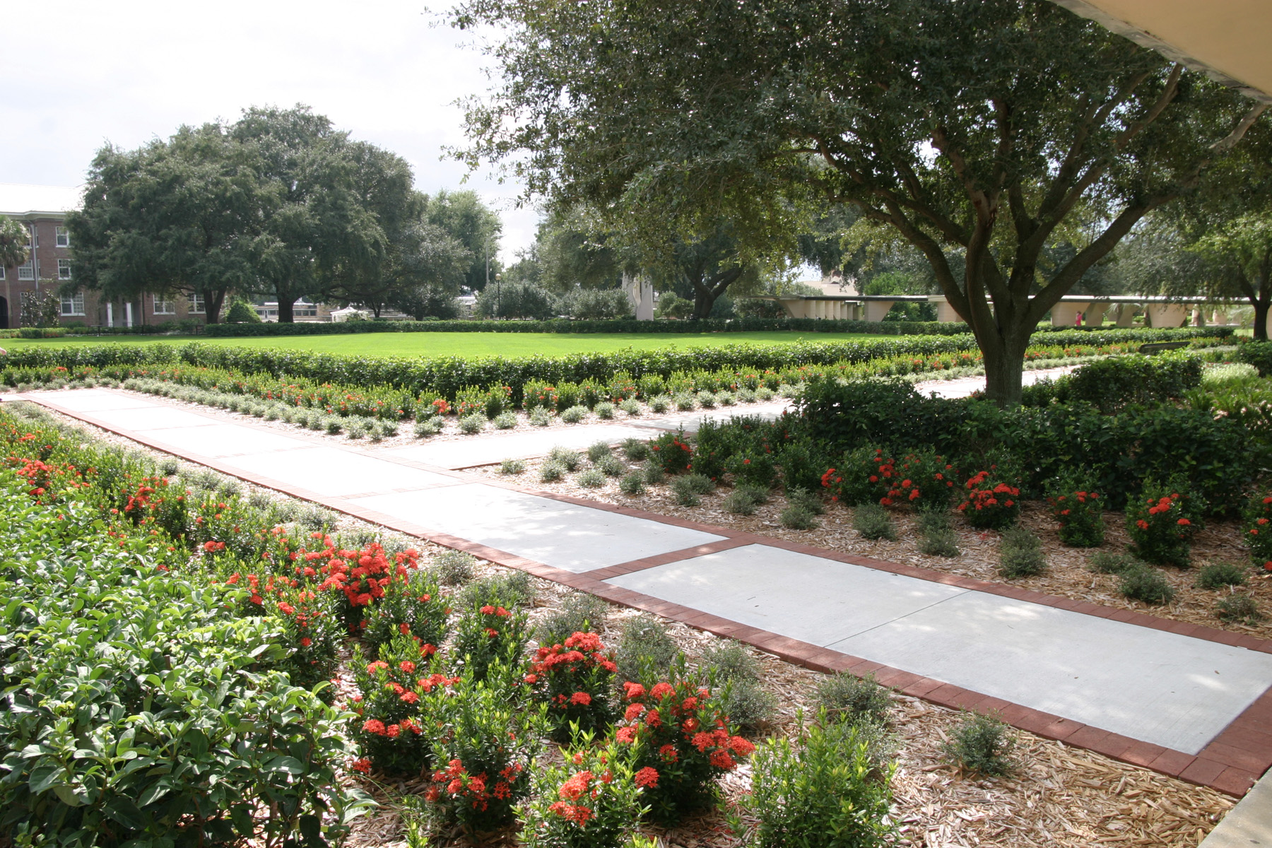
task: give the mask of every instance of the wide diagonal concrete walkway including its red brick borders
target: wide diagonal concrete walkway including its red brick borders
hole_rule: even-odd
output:
[[[873,671],[909,694],[999,711],[1025,730],[1234,795],[1272,765],[1272,642],[536,493],[448,468],[476,455],[462,453],[464,442],[375,450],[108,389],[25,399],[810,667]],[[603,427],[604,437],[626,437],[626,426],[600,425],[581,444]],[[530,435],[560,444],[567,432]],[[516,436],[483,441],[501,439]]]

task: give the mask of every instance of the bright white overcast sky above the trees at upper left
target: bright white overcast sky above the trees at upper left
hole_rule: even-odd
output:
[[[435,10],[446,6],[434,0]],[[106,141],[136,147],[248,106],[305,103],[352,137],[404,156],[416,188],[460,188],[440,159],[464,140],[455,99],[485,93],[466,33],[403,0],[20,3],[5,11],[0,182],[74,186]],[[488,169],[469,177],[504,219],[505,261],[538,215]]]

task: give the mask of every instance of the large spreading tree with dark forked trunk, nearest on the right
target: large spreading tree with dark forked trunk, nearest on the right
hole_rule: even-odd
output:
[[[1037,322],[1266,108],[1043,0],[472,0],[454,20],[510,32],[469,163],[698,233],[777,228],[809,192],[852,205],[922,252],[1000,403]],[[1044,272],[1057,240],[1077,249]]]

